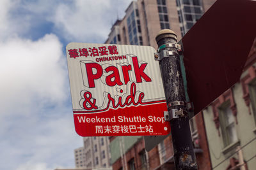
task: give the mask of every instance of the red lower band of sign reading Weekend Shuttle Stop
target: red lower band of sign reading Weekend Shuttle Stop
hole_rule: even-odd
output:
[[[170,133],[166,103],[109,109],[108,113],[74,114],[80,136],[154,136]],[[74,111],[75,113],[75,111]]]

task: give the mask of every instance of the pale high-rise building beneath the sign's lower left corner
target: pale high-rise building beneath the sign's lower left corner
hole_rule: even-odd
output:
[[[74,151],[77,168],[111,168],[108,137],[84,137],[83,143],[83,147]]]

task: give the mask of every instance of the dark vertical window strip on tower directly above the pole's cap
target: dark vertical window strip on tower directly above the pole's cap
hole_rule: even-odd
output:
[[[167,6],[166,6],[165,0],[157,0],[157,9],[159,13],[161,29],[170,29]]]

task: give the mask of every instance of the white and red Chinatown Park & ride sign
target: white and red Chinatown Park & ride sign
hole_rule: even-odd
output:
[[[151,46],[69,43],[74,123],[80,136],[170,133],[163,82]]]

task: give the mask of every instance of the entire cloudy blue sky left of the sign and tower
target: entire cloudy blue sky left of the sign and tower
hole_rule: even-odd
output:
[[[0,169],[75,167],[65,47],[104,43],[131,0],[0,1]]]

